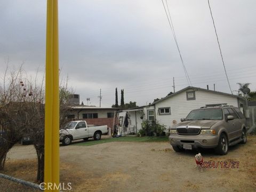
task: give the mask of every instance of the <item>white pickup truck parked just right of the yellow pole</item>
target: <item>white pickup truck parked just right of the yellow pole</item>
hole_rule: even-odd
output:
[[[72,121],[67,124],[65,129],[60,130],[60,142],[63,145],[70,145],[73,140],[89,138],[100,140],[101,135],[108,132],[107,125],[94,126],[87,125],[86,121]]]

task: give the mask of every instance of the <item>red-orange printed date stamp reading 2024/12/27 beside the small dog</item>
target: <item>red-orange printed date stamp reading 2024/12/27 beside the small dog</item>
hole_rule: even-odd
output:
[[[230,162],[226,162],[226,161],[218,161],[218,162],[215,162],[215,161],[209,161],[209,162],[201,162],[199,164],[199,168],[214,168],[214,169],[217,169],[218,167],[220,167],[221,169],[238,169],[239,167],[239,162],[233,162],[233,161],[230,161]]]

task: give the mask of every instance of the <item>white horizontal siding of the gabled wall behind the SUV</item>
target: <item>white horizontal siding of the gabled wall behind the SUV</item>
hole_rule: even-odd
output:
[[[203,107],[206,104],[227,103],[227,105],[236,107],[238,105],[237,98],[235,97],[201,90],[195,91],[196,100],[187,100],[187,91],[193,90],[185,90],[173,97],[156,103],[156,119],[160,124],[164,124],[167,129],[173,126],[173,120],[179,123],[180,118],[185,118],[191,110]],[[158,108],[162,107],[170,107],[171,115],[159,115]]]

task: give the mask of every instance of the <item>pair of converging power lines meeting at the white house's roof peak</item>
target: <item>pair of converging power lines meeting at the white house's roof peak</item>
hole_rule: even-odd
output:
[[[165,0],[165,1],[166,1],[166,0]],[[180,53],[180,48],[179,48],[179,44],[178,44],[178,41],[177,41],[177,37],[176,37],[176,35],[175,35],[175,31],[174,31],[174,27],[173,27],[173,23],[172,23],[172,19],[171,19],[171,14],[170,14],[170,11],[169,11],[169,7],[168,7],[168,4],[167,4],[167,1],[166,1],[166,5],[167,5],[167,9],[168,9],[168,12],[169,12],[170,19],[169,19],[169,17],[168,17],[168,14],[167,14],[167,11],[166,11],[166,8],[165,8],[165,5],[164,5],[163,0],[162,0],[162,3],[163,3],[163,6],[164,6],[164,11],[165,11],[166,17],[167,17],[168,22],[169,22],[169,26],[170,26],[170,28],[171,28],[171,30],[172,30],[172,35],[173,35],[175,44],[176,44],[177,49],[178,49],[178,51],[179,51],[180,60],[181,60],[182,67],[183,67],[183,69],[184,69],[184,72],[185,72],[185,75],[186,75],[186,78],[187,78],[188,85],[189,85],[189,83],[190,83],[190,85],[192,86],[192,83],[191,83],[190,78],[189,78],[189,76],[188,76],[187,69],[186,69],[186,67],[185,67],[185,65],[184,65],[184,62],[183,62],[183,59],[182,59],[182,56],[181,56],[181,53]]]

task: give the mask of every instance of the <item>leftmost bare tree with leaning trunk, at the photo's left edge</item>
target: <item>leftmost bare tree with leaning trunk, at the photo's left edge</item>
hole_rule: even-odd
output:
[[[22,113],[19,109],[23,106],[21,68],[9,75],[8,71],[7,66],[0,84],[0,170],[4,169],[7,152],[20,140],[25,129],[18,115]]]

